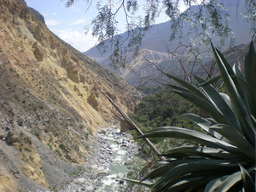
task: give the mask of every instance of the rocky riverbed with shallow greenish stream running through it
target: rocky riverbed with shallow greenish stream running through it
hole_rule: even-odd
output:
[[[127,183],[120,177],[128,171],[126,163],[138,146],[131,135],[112,127],[99,130],[92,139],[85,143],[91,156],[77,166],[73,172],[79,174],[59,191],[125,191]]]

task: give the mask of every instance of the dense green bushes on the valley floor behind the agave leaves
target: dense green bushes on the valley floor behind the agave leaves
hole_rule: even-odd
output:
[[[203,117],[206,115],[179,95],[173,95],[163,90],[144,97],[143,101],[135,106],[134,114],[129,114],[129,117],[143,132],[162,126],[181,126],[201,132],[202,129],[199,126],[186,120],[174,118],[185,113],[195,113]],[[133,137],[138,136],[135,130],[129,132]],[[164,152],[170,146],[175,147],[183,144],[181,139],[152,138],[150,140],[160,149],[160,152]],[[136,139],[136,141],[146,154],[154,155],[142,139]]]

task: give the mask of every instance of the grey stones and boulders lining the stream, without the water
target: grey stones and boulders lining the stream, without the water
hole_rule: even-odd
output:
[[[83,165],[84,170],[77,175],[77,178],[74,178],[68,185],[64,186],[63,189],[59,190],[60,192],[65,191],[94,191],[97,189],[102,178],[110,173],[111,164],[115,162],[114,157],[111,155],[113,151],[110,147],[110,144],[106,135],[112,135],[113,140],[119,145],[120,148],[127,150],[127,154],[131,157],[133,153],[138,151],[138,146],[132,140],[132,136],[128,133],[118,133],[114,128],[105,128],[106,132],[96,133],[94,137],[94,142],[91,143],[90,149],[93,151],[90,153],[91,156],[86,159],[85,164]],[[129,142],[130,141],[130,142]],[[125,162],[131,161],[131,158],[126,158]],[[80,165],[81,166],[81,165]],[[119,181],[113,179],[114,185],[115,182]],[[126,185],[126,182],[123,180],[119,181],[122,185]],[[68,190],[67,190],[68,189]],[[104,190],[102,190],[104,191]],[[118,191],[123,191],[121,188],[118,188]]]

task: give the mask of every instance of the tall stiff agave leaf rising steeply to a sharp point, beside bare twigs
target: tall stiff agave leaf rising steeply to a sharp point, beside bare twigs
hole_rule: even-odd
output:
[[[212,42],[211,42],[211,44],[212,44]],[[218,55],[218,53],[216,51],[217,48],[215,48],[213,46],[213,44],[212,44],[212,49],[213,49],[213,53],[214,53],[215,59],[217,61],[219,70],[222,74],[222,79],[225,83],[226,90],[228,91],[230,100],[234,107],[234,111],[235,111],[238,121],[241,125],[241,130],[243,132],[243,135],[251,143],[251,145],[254,146],[256,131],[251,122],[248,111],[245,108],[245,103],[242,100],[241,96],[239,95],[234,82],[232,81],[231,77],[229,76],[227,69],[225,68],[220,56]]]

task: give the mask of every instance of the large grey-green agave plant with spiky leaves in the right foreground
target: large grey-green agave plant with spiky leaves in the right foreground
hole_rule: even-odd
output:
[[[212,44],[212,43],[211,43]],[[166,74],[181,86],[167,85],[175,93],[195,104],[211,118],[183,114],[177,118],[191,121],[207,134],[179,127],[159,127],[138,138],[180,138],[198,143],[166,151],[168,160],[141,181],[126,179],[154,191],[255,191],[256,136],[256,53],[253,42],[245,56],[245,76],[236,65],[231,68],[222,53],[213,46],[227,94],[211,83],[193,76],[194,86]],[[156,183],[145,180],[156,179]]]

